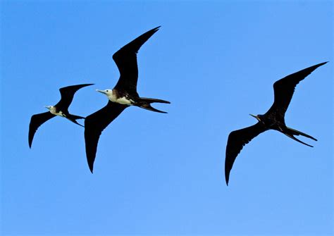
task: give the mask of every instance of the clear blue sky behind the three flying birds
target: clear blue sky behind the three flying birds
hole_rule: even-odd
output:
[[[161,25],[138,54],[137,90],[171,101],[130,107],[99,141],[30,117],[80,89],[88,116],[118,80],[112,54]],[[332,1],[1,1],[2,235],[332,235]],[[252,140],[225,185],[228,134],[256,123],[273,82],[330,61],[297,85],[289,127]]]

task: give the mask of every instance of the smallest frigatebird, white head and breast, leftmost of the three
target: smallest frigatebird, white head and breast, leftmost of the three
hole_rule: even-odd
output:
[[[61,92],[61,101],[58,101],[58,104],[54,106],[45,106],[46,108],[49,109],[49,111],[44,112],[44,113],[39,113],[31,117],[30,125],[29,125],[29,136],[28,136],[30,148],[32,144],[32,139],[34,138],[35,132],[37,131],[39,126],[41,126],[42,123],[53,118],[54,116],[61,116],[61,117],[68,118],[68,120],[72,121],[73,123],[80,125],[77,122],[77,120],[85,119],[85,117],[75,116],[75,115],[70,114],[68,112],[68,106],[70,106],[70,103],[73,100],[75,92],[77,92],[78,89],[81,89],[82,87],[86,87],[89,85],[94,85],[94,84],[72,85],[68,87],[62,87],[61,89],[59,89],[59,91]]]

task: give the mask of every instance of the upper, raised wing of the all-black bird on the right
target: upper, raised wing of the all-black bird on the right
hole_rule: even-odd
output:
[[[296,85],[298,85],[300,81],[304,80],[307,75],[316,70],[316,68],[323,66],[326,63],[327,62],[319,63],[315,66],[305,68],[304,70],[299,70],[296,73],[287,75],[286,77],[283,77],[283,79],[276,81],[273,84],[274,102],[266,114],[279,110],[280,115],[284,116],[285,111],[287,111],[287,107],[292,99],[292,95],[295,92]]]

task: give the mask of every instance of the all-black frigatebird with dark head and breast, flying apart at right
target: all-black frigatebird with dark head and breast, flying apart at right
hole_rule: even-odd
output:
[[[288,128],[285,125],[284,116],[285,111],[287,111],[287,106],[289,106],[292,99],[293,92],[295,92],[296,85],[298,85],[300,81],[304,80],[307,75],[311,74],[314,70],[316,70],[316,68],[318,68],[319,66],[323,66],[326,63],[327,62],[319,63],[315,66],[311,66],[291,75],[287,75],[286,77],[283,77],[283,79],[276,81],[273,84],[274,101],[271,108],[264,115],[254,116],[250,114],[250,116],[253,116],[257,120],[259,120],[259,122],[247,128],[230,132],[230,135],[228,135],[228,144],[226,146],[225,156],[226,185],[228,185],[230,170],[232,169],[233,163],[237,158],[237,154],[240,153],[242,147],[244,147],[245,144],[250,142],[257,135],[261,134],[261,132],[264,132],[266,130],[277,130],[279,132],[282,132],[284,135],[287,135],[287,137],[290,137],[297,142],[305,144],[309,147],[312,146],[300,141],[294,135],[302,135],[304,137],[308,137],[317,141],[314,137],[311,137],[304,132]]]

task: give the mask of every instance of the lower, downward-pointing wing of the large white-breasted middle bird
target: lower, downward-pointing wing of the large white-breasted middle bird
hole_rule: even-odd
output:
[[[116,104],[109,101],[104,108],[92,113],[85,119],[85,146],[90,171],[93,173],[97,143],[102,131],[115,120],[128,105]]]

